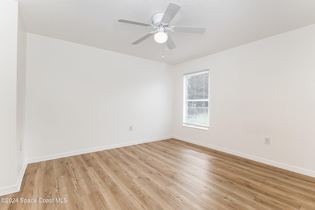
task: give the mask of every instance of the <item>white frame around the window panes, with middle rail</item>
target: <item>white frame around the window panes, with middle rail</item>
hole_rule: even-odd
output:
[[[208,99],[194,99],[194,100],[188,100],[187,99],[187,76],[194,76],[194,75],[200,75],[208,73]],[[189,72],[185,73],[183,75],[183,126],[185,127],[190,127],[190,128],[197,128],[197,129],[202,129],[202,130],[208,130],[209,129],[209,89],[210,89],[210,76],[209,76],[209,70],[200,70],[200,71],[195,71],[195,72]],[[193,101],[199,101],[199,102],[207,102],[208,103],[208,125],[200,125],[200,124],[191,124],[187,122],[187,103],[188,102],[193,102]]]

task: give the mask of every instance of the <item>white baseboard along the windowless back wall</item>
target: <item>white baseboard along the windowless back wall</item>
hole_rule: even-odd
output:
[[[159,137],[159,138],[153,138],[153,139],[147,139],[147,140],[131,141],[127,143],[119,143],[119,144],[113,144],[109,146],[101,146],[101,147],[95,147],[95,148],[90,148],[90,149],[82,149],[82,150],[64,152],[64,153],[59,153],[59,154],[54,154],[54,155],[29,158],[27,159],[27,163],[36,163],[36,162],[53,160],[53,159],[58,159],[58,158],[63,158],[63,157],[70,157],[74,155],[86,154],[90,152],[98,152],[98,151],[107,150],[107,149],[115,149],[115,148],[124,147],[124,146],[136,145],[140,143],[148,143],[148,142],[153,142],[153,141],[158,141],[158,140],[165,140],[165,139],[170,139],[170,138],[172,138],[172,136],[165,136],[165,137]]]

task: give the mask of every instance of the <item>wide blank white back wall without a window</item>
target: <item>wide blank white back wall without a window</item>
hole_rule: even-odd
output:
[[[171,66],[34,34],[27,44],[31,161],[171,136]]]

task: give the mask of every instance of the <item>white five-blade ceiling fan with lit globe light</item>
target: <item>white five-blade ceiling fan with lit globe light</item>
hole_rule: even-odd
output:
[[[181,6],[177,3],[170,2],[166,11],[156,13],[152,16],[152,24],[142,23],[138,21],[126,20],[126,19],[119,19],[118,22],[122,23],[130,23],[140,26],[147,26],[155,28],[156,31],[150,32],[147,35],[142,36],[135,42],[131,44],[138,44],[141,41],[149,38],[150,36],[154,35],[154,40],[158,43],[167,43],[168,49],[174,49],[176,47],[174,41],[172,40],[171,36],[165,32],[165,30],[169,30],[171,32],[183,32],[183,33],[194,33],[194,34],[203,34],[206,31],[206,28],[203,27],[190,27],[190,26],[171,26],[168,28],[169,22],[175,17],[177,12],[181,9]]]

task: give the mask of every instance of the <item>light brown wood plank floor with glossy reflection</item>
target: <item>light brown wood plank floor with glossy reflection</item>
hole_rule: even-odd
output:
[[[315,178],[169,139],[29,164],[0,198],[18,199],[0,210],[315,210]]]

